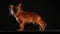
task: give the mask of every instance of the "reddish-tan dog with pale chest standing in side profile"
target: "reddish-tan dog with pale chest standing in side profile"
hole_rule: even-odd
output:
[[[10,5],[9,9],[11,11],[11,14],[16,18],[17,22],[20,24],[19,26],[19,31],[23,31],[24,30],[24,24],[25,23],[30,23],[32,22],[33,24],[38,24],[39,25],[39,30],[44,31],[46,28],[46,22],[44,22],[41,18],[41,16],[39,16],[37,13],[34,12],[24,12],[21,8],[22,3],[19,3],[16,6],[16,13],[14,13],[13,5]],[[21,21],[21,22],[20,22]]]

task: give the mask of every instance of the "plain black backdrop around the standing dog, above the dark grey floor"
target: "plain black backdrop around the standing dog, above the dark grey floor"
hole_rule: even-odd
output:
[[[0,0],[0,30],[15,30],[18,23],[9,14],[9,4],[17,5],[19,0]],[[60,29],[60,12],[58,0],[22,0],[23,10],[34,11],[47,22],[46,30]],[[28,25],[26,26],[28,27]],[[36,28],[36,26],[35,26]],[[34,29],[34,28],[33,28]]]

